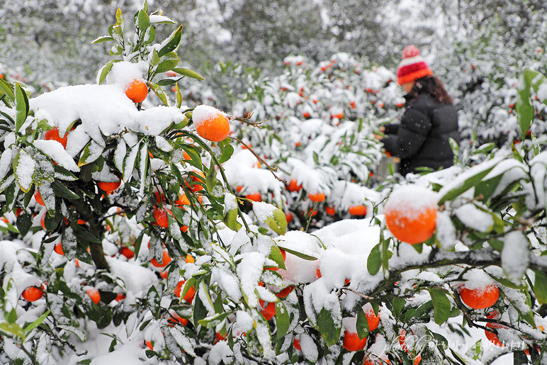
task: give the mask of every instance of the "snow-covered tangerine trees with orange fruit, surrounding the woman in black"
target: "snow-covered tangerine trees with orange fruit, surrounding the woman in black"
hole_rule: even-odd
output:
[[[176,21],[115,19],[94,84],[0,68],[2,363],[547,363],[537,64],[496,89],[509,137],[486,118],[403,178],[373,137],[403,110],[387,68],[286,57],[221,111],[182,28],[156,39]]]

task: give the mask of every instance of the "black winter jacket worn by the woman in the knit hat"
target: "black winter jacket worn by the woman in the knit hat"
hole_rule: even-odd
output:
[[[458,112],[452,104],[437,103],[427,93],[408,101],[400,124],[385,126],[385,150],[400,157],[402,176],[417,167],[439,168],[453,164],[449,137],[460,142]]]

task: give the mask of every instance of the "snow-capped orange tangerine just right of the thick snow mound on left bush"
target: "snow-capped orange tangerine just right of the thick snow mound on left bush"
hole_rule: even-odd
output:
[[[196,106],[192,112],[192,120],[196,125],[196,132],[205,140],[220,142],[230,134],[230,123],[225,114],[213,106]]]

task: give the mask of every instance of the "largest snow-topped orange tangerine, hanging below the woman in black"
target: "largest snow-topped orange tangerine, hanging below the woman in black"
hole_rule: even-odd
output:
[[[436,212],[436,193],[409,185],[390,194],[384,207],[385,224],[397,240],[415,245],[432,237]]]

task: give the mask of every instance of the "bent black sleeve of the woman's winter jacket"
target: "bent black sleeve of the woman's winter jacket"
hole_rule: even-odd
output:
[[[432,121],[426,112],[408,106],[401,118],[397,134],[388,135],[381,142],[391,155],[407,159],[416,155],[427,140],[431,128]]]

